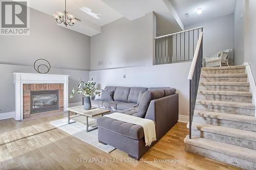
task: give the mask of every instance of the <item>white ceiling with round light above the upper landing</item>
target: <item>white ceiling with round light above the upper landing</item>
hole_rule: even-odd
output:
[[[215,18],[231,14],[234,11],[236,0],[169,0],[174,6],[184,26],[200,20]],[[238,0],[240,1],[240,0]],[[202,14],[197,9],[202,8]],[[188,13],[189,17],[185,17]]]

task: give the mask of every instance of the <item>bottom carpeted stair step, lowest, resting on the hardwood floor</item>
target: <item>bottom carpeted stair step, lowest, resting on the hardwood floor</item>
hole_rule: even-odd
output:
[[[219,160],[245,169],[256,168],[256,151],[214,140],[195,138],[184,139],[186,150],[211,159]]]

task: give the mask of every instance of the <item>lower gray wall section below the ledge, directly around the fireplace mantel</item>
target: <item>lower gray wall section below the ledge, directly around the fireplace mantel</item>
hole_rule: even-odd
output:
[[[9,64],[0,64],[0,109],[2,113],[14,111],[14,84],[12,72],[27,72],[27,73],[36,73],[33,67],[31,66],[21,66],[21,65],[9,65]],[[71,70],[71,69],[58,69],[53,68],[49,74],[58,74],[58,75],[70,75],[69,77],[69,94],[71,93],[72,87],[77,87],[80,80],[88,81],[89,80],[89,71],[83,70]],[[80,102],[81,97],[75,95],[74,98],[69,98],[69,103]],[[1,113],[0,113],[1,114]]]

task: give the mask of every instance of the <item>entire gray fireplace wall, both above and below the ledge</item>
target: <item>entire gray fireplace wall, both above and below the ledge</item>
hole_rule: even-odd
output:
[[[0,109],[14,111],[12,72],[32,72],[38,58],[49,60],[49,74],[70,75],[69,93],[80,80],[89,80],[90,37],[57,26],[53,16],[30,9],[29,36],[0,37]],[[61,69],[57,69],[61,68]],[[80,102],[75,96],[69,103]]]

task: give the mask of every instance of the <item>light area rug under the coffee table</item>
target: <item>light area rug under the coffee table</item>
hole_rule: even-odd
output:
[[[89,125],[95,123],[95,120],[89,117]],[[77,137],[78,139],[87,142],[94,147],[106,152],[110,153],[115,150],[114,147],[111,145],[104,145],[98,142],[98,129],[93,130],[91,132],[86,132],[86,125],[83,123],[85,122],[84,116],[78,116],[70,120],[70,124],[68,125],[68,118],[63,118],[59,120],[54,120],[50,122],[51,125],[55,126],[56,128],[69,133],[72,136]],[[91,128],[89,127],[89,130]]]

